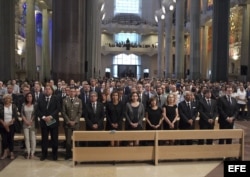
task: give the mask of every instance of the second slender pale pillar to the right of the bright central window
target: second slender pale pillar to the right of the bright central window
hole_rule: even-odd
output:
[[[166,77],[171,78],[173,74],[173,54],[172,54],[172,21],[173,21],[173,12],[168,10],[165,17],[165,68],[166,68]]]

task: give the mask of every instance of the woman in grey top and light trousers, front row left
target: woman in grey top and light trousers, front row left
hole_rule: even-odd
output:
[[[22,105],[21,116],[23,120],[23,133],[25,147],[27,150],[26,159],[32,159],[36,150],[36,127],[35,127],[35,99],[32,93],[25,95],[25,102]]]

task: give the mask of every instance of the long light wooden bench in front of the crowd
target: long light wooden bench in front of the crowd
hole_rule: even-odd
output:
[[[197,140],[232,138],[233,144],[213,145],[163,145],[162,140]],[[169,131],[75,131],[73,140],[73,165],[91,161],[153,161],[181,159],[224,159],[235,157],[244,160],[244,132],[230,130],[169,130]],[[77,147],[79,141],[153,141],[149,146]]]

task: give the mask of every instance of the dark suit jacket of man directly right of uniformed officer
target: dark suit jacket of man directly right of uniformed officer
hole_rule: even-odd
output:
[[[96,113],[94,113],[94,110],[92,108],[91,103],[86,105],[86,110],[85,110],[85,121],[86,121],[86,130],[94,130],[92,128],[93,124],[98,124],[98,129],[97,130],[104,130],[104,108],[103,104],[100,102],[97,102],[96,105]]]

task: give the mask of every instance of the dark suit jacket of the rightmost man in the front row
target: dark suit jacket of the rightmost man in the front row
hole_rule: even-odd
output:
[[[227,117],[238,116],[238,105],[235,98],[231,97],[232,104],[227,101],[227,97],[223,96],[218,99],[218,111],[219,111],[219,124],[220,126],[226,126],[233,128],[233,124],[230,124],[226,119]]]

